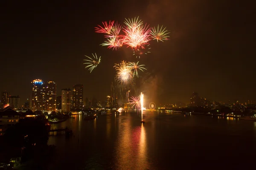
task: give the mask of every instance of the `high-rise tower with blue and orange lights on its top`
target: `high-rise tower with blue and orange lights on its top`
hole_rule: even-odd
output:
[[[30,107],[34,111],[46,111],[45,86],[41,79],[35,79],[31,82],[32,90],[30,97]]]

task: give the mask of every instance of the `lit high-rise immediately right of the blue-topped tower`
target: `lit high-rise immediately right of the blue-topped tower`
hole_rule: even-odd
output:
[[[56,83],[49,81],[45,84],[46,111],[56,110]]]

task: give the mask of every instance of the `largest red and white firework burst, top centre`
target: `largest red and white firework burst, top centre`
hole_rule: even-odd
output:
[[[148,44],[151,40],[151,28],[139,20],[139,17],[133,19],[125,19],[125,28],[123,31],[125,33],[124,43],[131,48],[140,48],[143,44]]]

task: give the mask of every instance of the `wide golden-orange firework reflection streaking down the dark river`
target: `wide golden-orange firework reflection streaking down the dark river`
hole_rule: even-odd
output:
[[[145,170],[148,168],[145,127],[142,124],[132,128],[130,116],[129,119],[118,124],[116,170]]]

